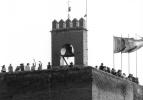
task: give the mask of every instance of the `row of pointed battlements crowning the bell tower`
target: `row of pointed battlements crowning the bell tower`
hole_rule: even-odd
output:
[[[67,19],[60,21],[54,20],[52,22],[52,31],[63,30],[63,29],[86,29],[86,22],[84,18],[79,20],[74,18],[73,20]]]

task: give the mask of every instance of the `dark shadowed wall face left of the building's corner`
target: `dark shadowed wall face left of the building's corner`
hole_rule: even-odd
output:
[[[90,68],[55,67],[0,76],[0,100],[91,100]]]

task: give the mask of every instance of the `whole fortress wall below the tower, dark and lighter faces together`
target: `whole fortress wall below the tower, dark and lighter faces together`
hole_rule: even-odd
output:
[[[0,74],[0,100],[143,100],[143,87],[92,67]]]

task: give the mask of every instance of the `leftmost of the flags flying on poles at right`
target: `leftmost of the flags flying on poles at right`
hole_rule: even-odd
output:
[[[122,52],[125,49],[125,41],[121,37],[113,37],[114,38],[114,53]]]

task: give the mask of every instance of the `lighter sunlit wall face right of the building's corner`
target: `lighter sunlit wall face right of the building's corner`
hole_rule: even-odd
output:
[[[143,100],[142,86],[101,70],[92,74],[92,100]]]

